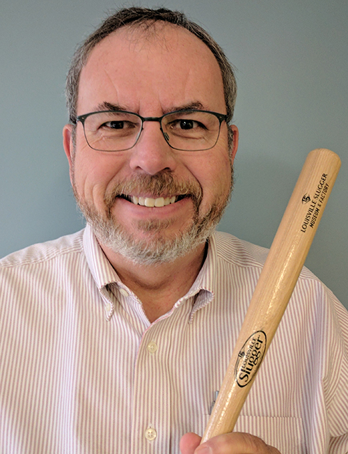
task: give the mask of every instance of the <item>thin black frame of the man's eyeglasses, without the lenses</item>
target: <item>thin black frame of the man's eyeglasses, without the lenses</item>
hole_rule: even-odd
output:
[[[216,137],[216,141],[215,141],[214,145],[209,146],[209,148],[200,148],[198,150],[184,150],[183,148],[173,147],[171,145],[171,143],[169,143],[168,134],[166,132],[164,132],[164,130],[162,129],[162,123],[161,122],[162,122],[163,118],[165,118],[166,116],[169,116],[169,115],[173,115],[173,114],[181,114],[181,113],[182,114],[191,114],[192,112],[203,112],[205,114],[212,114],[212,115],[216,116],[216,118],[219,120],[219,133],[218,133],[218,135]],[[141,119],[141,128],[139,130],[139,134],[136,137],[136,141],[134,142],[134,144],[131,147],[122,148],[122,150],[100,150],[99,148],[93,148],[92,146],[90,146],[90,144],[88,142],[88,139],[87,139],[86,130],[85,130],[86,118],[88,118],[90,115],[93,115],[93,114],[106,114],[106,113],[131,114],[131,115],[135,115],[136,117]],[[219,136],[220,136],[221,123],[223,121],[226,121],[226,123],[227,123],[227,118],[228,118],[228,116],[226,114],[219,114],[218,112],[213,112],[213,111],[209,111],[209,110],[199,110],[199,109],[176,110],[176,111],[168,112],[168,114],[164,114],[164,115],[162,115],[160,117],[142,117],[139,114],[135,114],[134,112],[125,111],[125,110],[122,110],[122,111],[119,111],[119,110],[101,110],[101,111],[88,112],[88,114],[83,114],[83,115],[77,116],[76,120],[74,122],[74,125],[77,125],[77,122],[80,122],[82,124],[82,126],[84,127],[84,136],[85,136],[86,142],[87,142],[88,146],[90,148],[92,148],[93,150],[105,151],[105,152],[118,152],[118,151],[131,150],[134,146],[136,146],[136,143],[139,141],[139,137],[141,136],[141,132],[143,131],[143,124],[144,124],[145,121],[157,121],[159,123],[159,129],[161,130],[161,133],[164,136],[164,139],[165,139],[166,143],[168,143],[168,145],[171,148],[173,148],[174,150],[194,152],[194,151],[211,150],[212,148],[214,148],[214,146],[216,146],[216,143],[219,140]]]

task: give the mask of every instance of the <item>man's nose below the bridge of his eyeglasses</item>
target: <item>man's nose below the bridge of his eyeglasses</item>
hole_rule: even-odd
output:
[[[174,171],[177,166],[177,155],[161,132],[157,122],[145,122],[143,131],[132,148],[129,166],[132,170],[143,170],[149,175],[164,170]]]

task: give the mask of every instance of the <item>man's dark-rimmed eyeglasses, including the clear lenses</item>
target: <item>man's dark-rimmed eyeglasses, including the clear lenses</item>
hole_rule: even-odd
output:
[[[97,111],[77,117],[84,126],[90,148],[123,151],[139,140],[144,121],[158,121],[171,148],[200,151],[213,148],[219,139],[221,123],[227,115],[203,110],[181,110],[161,117],[142,117],[127,111]]]

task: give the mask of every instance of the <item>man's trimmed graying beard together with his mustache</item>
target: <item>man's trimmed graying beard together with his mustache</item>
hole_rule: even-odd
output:
[[[203,190],[198,182],[177,182],[171,173],[167,172],[157,175],[141,175],[132,181],[120,182],[104,198],[106,207],[104,216],[97,212],[94,205],[86,203],[79,197],[74,184],[73,189],[79,208],[100,244],[134,263],[159,265],[185,256],[207,241],[230,201],[232,184],[230,194],[224,200],[221,200],[221,197],[217,198],[216,203],[204,215],[199,213]],[[120,194],[130,194],[132,191],[137,191],[139,194],[148,191],[153,194],[154,198],[162,194],[187,194],[192,199],[194,207],[190,225],[186,230],[178,232],[174,238],[168,238],[165,230],[171,225],[171,221],[159,221],[158,219],[140,221],[138,228],[147,232],[148,235],[146,240],[136,239],[132,233],[127,232],[118,224],[117,219],[111,213],[116,197]]]

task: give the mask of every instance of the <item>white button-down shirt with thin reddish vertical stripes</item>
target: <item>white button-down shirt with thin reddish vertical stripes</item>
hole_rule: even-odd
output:
[[[214,233],[150,323],[90,227],[0,261],[0,453],[179,454],[203,434],[267,250]],[[239,416],[283,454],[348,453],[348,314],[308,269]]]

